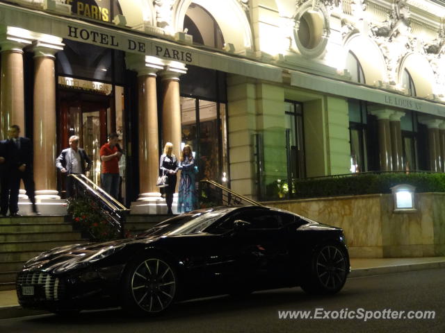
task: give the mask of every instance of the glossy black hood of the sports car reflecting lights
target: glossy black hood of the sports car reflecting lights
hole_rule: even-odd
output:
[[[53,248],[24,264],[24,271],[47,271],[65,273],[74,268],[88,266],[105,257],[122,250],[130,244],[148,244],[159,237],[144,237],[143,239],[118,239],[104,243],[72,244]]]

